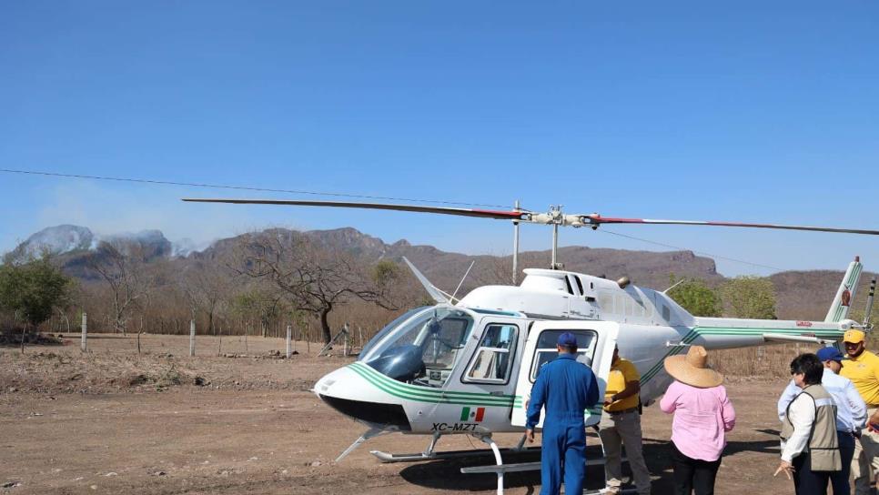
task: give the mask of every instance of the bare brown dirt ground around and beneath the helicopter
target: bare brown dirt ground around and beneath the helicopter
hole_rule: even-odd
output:
[[[277,359],[273,338],[96,335],[89,353],[78,335],[65,346],[0,349],[0,493],[463,493],[494,491],[494,475],[460,474],[485,457],[381,464],[369,450],[419,452],[428,439],[370,439],[338,465],[332,460],[364,429],[308,389],[351,359],[317,358],[303,342]],[[217,356],[217,352],[225,356]],[[247,356],[242,356],[242,355]],[[228,356],[228,357],[227,357]],[[234,356],[234,357],[233,357]],[[196,382],[200,385],[196,385]],[[738,414],[718,475],[719,494],[793,493],[773,479],[778,464],[775,400],[779,380],[727,385]],[[645,453],[653,493],[671,492],[671,418],[644,409]],[[499,435],[501,445],[516,435]],[[594,444],[595,441],[591,440]],[[469,437],[440,450],[480,448]],[[512,461],[538,460],[533,453]],[[599,468],[587,485],[600,488]],[[506,493],[540,491],[540,473],[510,473]]]

